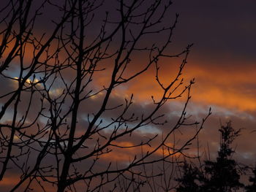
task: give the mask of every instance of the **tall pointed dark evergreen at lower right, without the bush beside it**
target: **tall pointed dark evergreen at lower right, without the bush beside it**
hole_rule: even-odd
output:
[[[236,137],[239,136],[241,129],[235,131],[231,122],[220,129],[221,140],[220,149],[216,161],[205,161],[204,171],[206,180],[203,184],[203,191],[233,191],[244,185],[240,183],[238,163],[232,158],[235,153],[230,146]]]

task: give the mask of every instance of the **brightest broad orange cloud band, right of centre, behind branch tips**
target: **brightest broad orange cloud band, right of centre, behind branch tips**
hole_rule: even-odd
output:
[[[252,70],[253,64],[246,63],[242,66],[240,62],[233,63],[232,67],[224,64],[221,67],[211,63],[206,65],[200,62],[195,64],[195,61],[187,64],[183,72],[184,85],[194,77],[196,82],[192,86],[192,101],[230,110],[255,111],[256,71]],[[178,72],[178,64],[163,64],[160,77],[164,85],[174,79]],[[101,77],[97,83],[102,84],[107,80],[107,77]],[[125,86],[118,91],[122,95],[134,93],[138,101],[151,101],[151,96],[159,99],[162,95],[162,88],[155,80],[154,67]]]

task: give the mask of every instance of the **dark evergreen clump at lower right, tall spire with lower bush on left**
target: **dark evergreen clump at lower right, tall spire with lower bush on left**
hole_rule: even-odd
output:
[[[239,136],[241,129],[234,130],[231,122],[227,126],[219,129],[220,149],[216,161],[204,161],[200,167],[193,164],[185,164],[182,166],[183,174],[177,181],[179,182],[176,191],[219,191],[230,192],[244,188],[244,184],[240,182],[240,173],[238,163],[232,158],[235,153],[231,147],[232,142]],[[250,177],[253,182],[254,178]],[[252,184],[254,185],[254,184]],[[252,186],[248,186],[251,188]],[[253,188],[253,187],[252,187]],[[253,189],[252,189],[253,191]]]

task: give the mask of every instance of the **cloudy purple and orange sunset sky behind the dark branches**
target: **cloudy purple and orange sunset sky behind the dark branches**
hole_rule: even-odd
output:
[[[225,124],[226,121],[232,120],[234,128],[245,128],[242,131],[241,137],[238,137],[235,142],[235,144],[237,144],[236,158],[241,159],[243,162],[250,163],[254,161],[256,155],[254,152],[256,147],[254,139],[256,130],[256,72],[254,69],[256,28],[254,23],[256,15],[255,10],[252,9],[252,7],[255,7],[255,1],[248,1],[247,4],[243,4],[241,1],[230,0],[225,1],[222,4],[212,0],[176,1],[173,9],[178,8],[178,10],[181,11],[181,22],[178,23],[176,28],[173,45],[168,47],[167,50],[168,53],[178,53],[179,50],[182,50],[187,45],[187,42],[195,42],[195,47],[192,48],[192,54],[189,55],[189,63],[184,69],[183,77],[185,82],[184,85],[194,77],[196,80],[196,84],[192,86],[192,101],[187,107],[187,115],[192,115],[192,117],[189,118],[189,122],[192,122],[193,120],[202,120],[202,118],[206,116],[209,107],[211,107],[213,111],[213,115],[208,118],[208,121],[199,135],[200,151],[202,154],[205,152],[207,144],[209,145],[211,155],[214,156],[217,154],[216,152],[219,147],[219,121],[221,121],[222,124]],[[111,6],[110,9],[113,9],[113,6]],[[48,14],[45,15],[47,18],[41,17],[36,23],[37,30],[34,32],[36,36],[37,33],[40,34],[39,32],[41,32],[41,29],[43,29],[43,31],[51,29],[51,24],[48,25],[46,22],[51,20],[53,15],[54,17],[56,17],[56,15],[59,16],[56,14],[56,9],[50,9]],[[100,15],[102,17],[102,13],[100,13]],[[113,15],[111,16],[113,17]],[[42,28],[45,25],[47,27]],[[100,25],[96,23],[95,26],[99,27]],[[96,29],[94,27],[91,28],[93,30],[88,31],[94,33]],[[146,45],[148,43],[147,39],[144,40],[144,42],[141,42],[141,45]],[[159,43],[162,42],[162,40],[163,37],[158,36],[157,39],[149,39],[148,41],[157,41],[157,43]],[[10,43],[7,53],[12,46],[13,42]],[[56,45],[53,43],[52,46],[54,47]],[[26,65],[29,65],[33,58],[33,47],[29,45],[26,49],[25,61]],[[7,53],[4,53],[3,56],[6,57]],[[144,53],[136,53],[134,57],[131,58],[131,63],[127,67],[127,72],[125,73],[126,77],[135,74],[135,72],[138,72],[147,64],[144,55]],[[63,61],[64,57],[65,54],[60,53],[60,61]],[[164,82],[164,85],[167,85],[167,82],[170,82],[176,77],[178,66],[181,64],[181,61],[182,58],[159,60],[160,80]],[[54,61],[50,61],[49,64],[54,64]],[[104,67],[107,67],[107,69],[96,72],[93,81],[85,90],[84,95],[91,90],[93,90],[91,94],[97,93],[103,86],[109,85],[113,64],[114,61],[111,59],[105,60],[100,64],[100,69],[103,69]],[[18,77],[19,70],[17,66],[18,61],[13,61],[8,71],[4,72],[4,74],[13,78]],[[64,69],[62,75],[66,80],[67,85],[70,85],[71,82],[75,80],[74,69]],[[145,74],[135,78],[127,83],[127,85],[116,87],[110,96],[107,108],[110,109],[119,104],[125,104],[124,98],[129,99],[131,94],[134,93],[134,101],[130,110],[127,111],[127,117],[129,117],[132,112],[135,112],[135,116],[138,116],[138,118],[141,118],[142,114],[147,115],[155,107],[151,96],[154,96],[154,99],[159,99],[163,93],[162,89],[157,85],[155,75],[154,66],[151,66]],[[38,79],[39,77],[37,77],[36,80]],[[28,84],[30,80],[32,80],[32,78],[28,80]],[[1,94],[9,93],[17,88],[17,82],[8,80],[2,75],[0,76],[0,81]],[[83,83],[85,82],[86,80],[83,81]],[[52,96],[53,99],[56,99],[61,95],[63,88],[63,82],[61,82],[60,79],[56,80],[55,85],[50,89],[50,96]],[[72,91],[72,89],[70,91]],[[105,93],[106,91],[102,91],[81,102],[78,128],[76,132],[77,137],[80,137],[80,135],[85,133],[89,124],[87,117],[89,115],[90,119],[99,110]],[[22,93],[20,99],[21,106],[18,109],[19,119],[26,112],[29,96],[29,93]],[[29,120],[33,120],[39,112],[40,98],[41,96],[39,93],[35,94],[28,122]],[[159,120],[167,120],[167,123],[165,123],[164,126],[156,126],[153,124],[144,126],[135,131],[135,133],[132,134],[132,137],[123,137],[123,139],[115,141],[113,144],[124,147],[133,144],[138,145],[141,141],[145,141],[149,137],[159,134],[159,137],[152,142],[152,147],[146,145],[143,148],[144,152],[152,150],[154,146],[161,141],[161,134],[167,134],[167,132],[173,128],[173,125],[175,125],[181,114],[182,107],[184,107],[184,100],[186,98],[187,94],[185,93],[184,97],[170,101],[170,104],[162,107],[159,113],[157,113],[157,115],[165,114],[165,117]],[[72,105],[71,100],[72,99],[69,96],[65,99],[65,104],[62,104],[61,106],[61,115],[69,110],[69,107]],[[4,104],[5,101],[6,98],[2,98],[0,100],[1,105]],[[48,110],[48,101],[45,101],[44,104],[44,107]],[[43,113],[44,115],[49,115],[47,110]],[[111,123],[111,118],[118,117],[122,110],[124,110],[124,106],[118,107],[115,110],[106,110],[101,117],[101,120],[103,120],[101,126],[108,126]],[[7,110],[4,118],[1,119],[1,123],[10,122],[12,115],[13,109],[12,106],[10,106],[10,109]],[[68,123],[69,120],[70,116],[67,117]],[[40,117],[38,123],[40,126],[44,126],[48,122],[45,121],[45,118]],[[127,123],[127,125],[130,128],[135,126],[135,123],[136,122]],[[113,131],[113,126],[115,125],[116,124],[113,124],[109,128],[106,128],[105,131],[102,131],[103,134],[105,134],[106,137],[110,137],[110,131]],[[61,128],[65,129],[67,128],[67,125],[63,125]],[[33,129],[35,130],[36,127],[30,127],[26,133],[33,133]],[[179,147],[183,145],[189,137],[192,137],[195,132],[195,126],[182,126],[179,131],[175,132],[176,138],[171,137],[167,143],[170,146],[175,144],[176,147]],[[15,139],[17,141],[17,136],[15,136]],[[91,138],[88,142],[86,141],[86,146],[89,147],[89,149],[80,150],[80,154],[78,155],[88,154],[91,147],[95,146],[96,140],[97,138]],[[104,140],[100,140],[100,142],[103,143]],[[110,161],[124,164],[131,161],[135,155],[141,155],[140,147],[125,149],[111,147],[111,149],[113,149],[112,152],[102,155],[102,159],[97,166],[95,166],[95,170],[105,169]],[[197,142],[192,142],[192,145],[189,145],[189,150],[186,150],[185,152],[191,155],[196,155]],[[154,158],[159,157],[160,155],[162,155],[162,150],[159,149],[154,155]],[[36,153],[33,153],[31,161],[34,161],[36,156]],[[50,160],[52,160],[50,157],[45,158],[45,163],[51,162]],[[91,162],[92,159],[89,159],[89,161]],[[88,165],[89,164],[86,164],[86,166],[78,164],[78,168],[81,170],[88,169]],[[10,172],[12,172],[13,175],[7,175],[2,182],[4,183],[4,188],[6,188],[7,185],[12,185],[11,180],[13,180],[14,183],[17,182],[17,173],[14,174],[14,169]],[[50,191],[50,188],[48,188],[47,191]]]

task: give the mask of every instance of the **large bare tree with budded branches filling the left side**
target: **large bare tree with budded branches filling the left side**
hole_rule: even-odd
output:
[[[194,80],[184,85],[181,72],[191,45],[169,53],[178,20],[178,15],[172,22],[166,18],[171,4],[167,0],[5,2],[0,11],[0,78],[6,85],[0,96],[0,180],[8,172],[18,175],[10,191],[49,191],[48,184],[58,192],[79,191],[81,183],[83,191],[115,191],[121,177],[130,181],[126,191],[136,191],[143,182],[133,178],[147,178],[143,166],[187,149],[206,119],[187,122]],[[49,9],[55,17],[44,31],[43,17]],[[179,57],[176,76],[162,82],[161,62]],[[155,70],[160,91],[143,111],[133,102],[133,94],[120,93],[148,69]],[[180,116],[162,138],[138,137],[142,128],[168,126],[161,110],[181,96],[185,99]],[[195,134],[170,145],[170,136],[179,128],[198,124]],[[157,155],[163,148],[165,153]],[[134,153],[124,164],[111,158],[116,151],[131,149]]]

